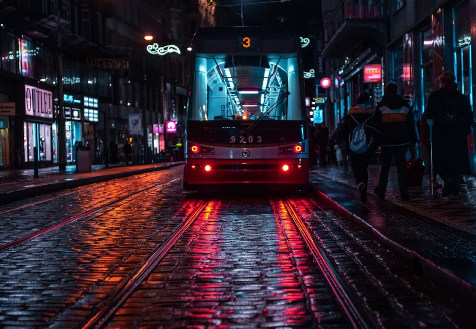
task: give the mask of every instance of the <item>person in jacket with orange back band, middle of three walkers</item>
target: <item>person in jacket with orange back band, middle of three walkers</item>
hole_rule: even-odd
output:
[[[409,104],[397,91],[398,87],[394,83],[386,84],[382,100],[375,108],[375,122],[381,132],[382,168],[374,192],[380,200],[385,200],[388,174],[395,158],[400,196],[403,201],[408,201],[410,196],[406,180],[406,152],[411,144],[417,143],[417,134]]]

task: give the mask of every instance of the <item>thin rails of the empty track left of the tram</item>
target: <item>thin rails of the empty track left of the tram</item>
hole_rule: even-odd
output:
[[[50,232],[52,232],[52,231],[54,231],[54,230],[56,230],[56,229],[59,229],[59,228],[65,226],[65,225],[71,224],[71,223],[73,223],[73,222],[75,222],[75,221],[78,221],[78,220],[80,220],[80,219],[83,219],[83,218],[85,218],[85,217],[87,217],[87,216],[89,216],[89,215],[92,215],[92,214],[94,214],[94,213],[97,213],[97,212],[99,212],[99,211],[101,211],[101,210],[104,210],[104,209],[107,209],[107,208],[109,208],[109,207],[112,207],[113,205],[118,204],[118,203],[120,203],[121,201],[124,201],[124,200],[126,200],[126,199],[132,198],[132,197],[135,196],[135,195],[138,195],[138,194],[147,192],[147,191],[149,191],[149,190],[151,190],[151,189],[154,189],[154,188],[158,188],[158,187],[162,187],[162,186],[165,186],[165,185],[168,185],[168,184],[172,184],[172,183],[174,183],[174,182],[176,182],[176,181],[178,181],[178,180],[180,180],[180,179],[179,179],[179,178],[174,178],[174,179],[171,179],[171,180],[169,180],[169,181],[161,182],[160,184],[157,184],[157,185],[154,185],[154,186],[149,186],[149,187],[140,189],[140,190],[138,190],[138,191],[134,191],[134,192],[132,192],[132,193],[123,195],[123,196],[121,196],[120,198],[116,198],[116,199],[114,199],[114,200],[112,200],[112,201],[110,201],[110,202],[108,202],[108,203],[106,203],[106,204],[103,204],[103,205],[99,206],[99,207],[96,207],[96,208],[93,208],[93,209],[91,209],[91,210],[85,211],[85,212],[81,213],[80,215],[74,216],[73,218],[70,218],[70,219],[61,221],[61,222],[59,222],[59,223],[57,223],[57,224],[55,224],[55,225],[49,226],[49,227],[47,227],[47,228],[44,228],[44,229],[42,229],[42,230],[39,230],[39,231],[37,231],[37,232],[35,232],[35,233],[32,233],[32,234],[30,234],[30,235],[21,237],[21,238],[19,238],[19,239],[16,239],[16,240],[10,242],[10,243],[6,243],[6,244],[3,244],[3,245],[0,245],[0,251],[3,251],[3,250],[5,250],[5,249],[7,249],[7,248],[10,248],[10,247],[13,247],[13,246],[15,246],[15,245],[18,245],[18,244],[20,244],[20,243],[22,243],[22,242],[26,242],[26,241],[32,240],[32,239],[34,239],[34,238],[36,238],[36,237],[38,237],[38,236],[40,236],[40,235],[43,235],[43,234],[45,234],[45,233],[50,233]],[[68,194],[72,194],[72,193],[68,193]],[[61,195],[61,196],[64,196],[64,194]],[[54,199],[58,199],[58,198],[60,198],[61,196],[55,196],[55,197],[53,197],[53,198],[47,199],[46,201],[51,201],[51,200],[54,200]],[[43,202],[46,202],[46,201],[43,201]],[[31,203],[30,206],[33,205],[33,204],[36,205],[37,203]],[[25,206],[25,207],[27,207],[27,206]],[[15,209],[10,210],[10,211],[18,210],[18,209],[23,209],[23,208],[25,208],[25,207],[17,207],[17,208],[15,208]]]

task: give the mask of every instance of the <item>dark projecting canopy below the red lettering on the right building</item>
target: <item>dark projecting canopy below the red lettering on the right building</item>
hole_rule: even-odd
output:
[[[386,43],[384,31],[383,22],[347,20],[322,50],[322,56],[342,58],[359,39],[366,44],[374,45],[373,49],[383,48]]]

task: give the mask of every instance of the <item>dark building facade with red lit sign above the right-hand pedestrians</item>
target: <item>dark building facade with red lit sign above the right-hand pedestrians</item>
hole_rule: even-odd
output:
[[[376,103],[382,86],[393,82],[402,96],[412,97],[419,120],[444,71],[455,73],[459,90],[473,104],[476,1],[325,3],[323,52],[327,73],[334,81],[327,94],[328,117],[338,122],[364,90]],[[473,133],[467,142],[474,172]]]

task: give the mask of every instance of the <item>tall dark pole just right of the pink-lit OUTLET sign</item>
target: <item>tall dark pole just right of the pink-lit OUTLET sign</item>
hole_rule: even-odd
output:
[[[56,2],[56,22],[58,33],[58,165],[66,170],[66,122],[63,108],[63,59],[61,53],[61,12],[60,1]]]

